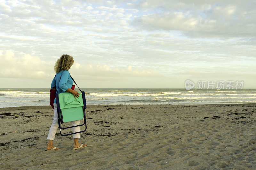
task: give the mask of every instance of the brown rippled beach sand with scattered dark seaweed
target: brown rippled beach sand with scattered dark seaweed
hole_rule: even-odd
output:
[[[44,151],[51,106],[0,108],[0,168],[256,169],[255,108],[88,105],[79,141],[89,146],[74,150],[72,135],[57,130],[56,151]]]

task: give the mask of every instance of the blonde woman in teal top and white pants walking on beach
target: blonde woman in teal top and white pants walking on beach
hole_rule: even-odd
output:
[[[71,79],[70,74],[68,72],[68,70],[73,65],[73,63],[74,63],[73,57],[67,54],[62,55],[60,59],[57,60],[54,66],[54,71],[56,73],[56,76],[52,80],[51,88],[53,89],[56,86],[58,94],[62,92],[70,92],[76,98],[76,97],[79,97],[79,93],[75,90],[70,89],[73,85],[73,80]],[[46,148],[47,151],[60,149],[53,146],[53,140],[56,134],[56,130],[58,128],[58,112],[57,112],[56,98],[54,100],[53,106],[54,106],[54,116],[53,116],[52,126],[49,130],[49,134],[47,137],[47,139],[49,140]],[[80,120],[72,121],[73,126],[76,126],[79,124],[80,124]],[[75,133],[75,132],[79,132],[80,128],[78,126],[78,127],[72,128],[72,130],[73,130],[73,133]],[[80,133],[73,134],[73,138],[74,138],[73,149],[78,149],[78,148],[87,146],[86,144],[80,144],[78,142],[79,137],[80,137]]]

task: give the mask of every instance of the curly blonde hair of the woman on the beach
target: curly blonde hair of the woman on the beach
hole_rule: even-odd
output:
[[[58,59],[54,66],[54,71],[57,74],[61,70],[68,70],[74,64],[74,58],[70,55],[63,54],[60,59]]]

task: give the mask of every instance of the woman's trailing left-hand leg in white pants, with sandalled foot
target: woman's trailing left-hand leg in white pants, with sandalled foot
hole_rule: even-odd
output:
[[[54,148],[54,146],[53,146],[53,140],[54,140],[56,131],[57,131],[57,129],[58,129],[58,111],[57,111],[57,104],[56,104],[56,103],[53,103],[53,107],[54,107],[54,115],[53,115],[52,126],[51,126],[51,128],[50,128],[50,130],[49,130],[48,137],[47,137],[47,139],[48,139],[49,141],[48,141],[48,145],[47,145],[47,148],[46,148],[46,149],[52,149],[52,148]],[[57,148],[57,149],[60,149],[60,148]]]

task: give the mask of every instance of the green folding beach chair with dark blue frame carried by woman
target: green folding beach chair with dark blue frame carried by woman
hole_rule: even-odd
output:
[[[74,81],[73,78],[72,78],[72,80]],[[76,82],[75,82],[75,84],[76,84]],[[80,88],[79,88],[79,90],[80,90]],[[58,123],[59,123],[61,136],[67,136],[67,135],[72,135],[75,133],[81,133],[87,129],[86,116],[85,116],[85,109],[86,109],[85,93],[81,91],[81,94],[79,95],[79,97],[76,97],[76,99],[75,99],[74,95],[69,92],[62,92],[59,95],[57,93],[55,94],[56,103],[57,103],[57,111],[58,111]],[[73,128],[73,127],[77,127],[77,126],[61,128],[60,124],[65,123],[65,122],[82,120],[82,119],[84,119],[84,123],[81,125],[77,125],[77,126],[83,126],[85,124],[85,130],[80,131],[80,132],[75,132],[75,133],[68,133],[65,135],[61,134],[61,129],[68,129],[68,128]]]

